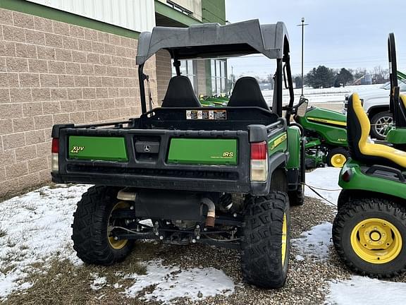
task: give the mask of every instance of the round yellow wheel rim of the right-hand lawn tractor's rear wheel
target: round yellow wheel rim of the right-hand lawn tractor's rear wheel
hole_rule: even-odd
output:
[[[388,220],[369,218],[352,229],[351,246],[357,256],[368,263],[389,263],[402,250],[402,236]]]

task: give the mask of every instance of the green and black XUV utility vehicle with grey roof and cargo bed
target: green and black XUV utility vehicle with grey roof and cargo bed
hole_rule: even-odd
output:
[[[147,111],[144,63],[161,49],[171,54],[177,75],[161,107]],[[305,181],[304,139],[289,124],[292,112],[282,117],[283,83],[295,109],[289,51],[283,23],[250,20],[143,32],[136,59],[142,115],[52,130],[53,181],[95,184],[73,220],[78,257],[110,265],[140,239],[203,243],[240,249],[247,282],[283,286],[289,207],[302,204]],[[227,107],[214,109],[202,107],[189,78],[180,75],[181,59],[245,54],[276,59],[271,109],[254,78],[240,78]]]

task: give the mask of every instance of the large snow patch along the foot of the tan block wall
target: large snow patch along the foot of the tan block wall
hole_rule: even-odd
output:
[[[70,224],[76,203],[89,186],[45,186],[0,204],[0,299],[32,284],[28,273],[47,268],[52,256],[79,264],[71,246]]]

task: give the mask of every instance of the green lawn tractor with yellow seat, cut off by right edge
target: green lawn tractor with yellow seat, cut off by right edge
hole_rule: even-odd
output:
[[[388,134],[405,148],[406,96],[399,95],[395,39],[388,38],[390,109],[395,128]],[[393,277],[406,271],[406,152],[368,140],[370,124],[359,96],[350,96],[347,140],[350,160],[340,172],[343,188],[333,223],[338,256],[355,273]]]

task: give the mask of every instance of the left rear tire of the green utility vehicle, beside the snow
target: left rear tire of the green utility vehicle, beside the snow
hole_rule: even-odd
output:
[[[112,265],[123,261],[133,248],[132,240],[115,241],[109,237],[111,212],[125,208],[116,196],[120,189],[92,186],[82,195],[73,214],[73,249],[85,263]]]

